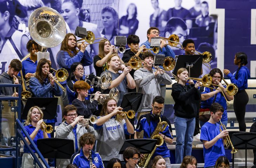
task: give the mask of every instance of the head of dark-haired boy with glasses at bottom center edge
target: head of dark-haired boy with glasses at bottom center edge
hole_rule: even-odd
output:
[[[134,147],[127,147],[124,150],[123,158],[125,161],[124,168],[135,168],[138,167],[137,163],[140,161],[139,149]]]

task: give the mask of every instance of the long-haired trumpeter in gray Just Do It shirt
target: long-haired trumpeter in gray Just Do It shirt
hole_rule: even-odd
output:
[[[113,98],[107,98],[103,103],[100,117],[95,130],[99,134],[96,151],[102,156],[105,166],[111,158],[118,158],[123,161],[119,151],[124,144],[125,134],[133,134],[134,128],[125,115],[125,119],[116,119],[117,114],[122,113],[122,108],[117,107],[117,102]]]

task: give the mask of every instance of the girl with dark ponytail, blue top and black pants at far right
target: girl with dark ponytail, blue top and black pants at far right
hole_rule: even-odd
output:
[[[236,119],[239,124],[239,131],[246,131],[244,116],[245,107],[249,101],[249,97],[245,89],[248,87],[247,80],[250,78],[249,69],[245,66],[247,63],[247,55],[244,52],[237,52],[234,59],[234,64],[238,66],[237,70],[233,75],[228,69],[223,70],[231,83],[236,84],[238,87],[238,92],[234,96],[233,105]]]

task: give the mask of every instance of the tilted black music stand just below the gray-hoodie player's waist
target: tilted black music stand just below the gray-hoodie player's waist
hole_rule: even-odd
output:
[[[138,92],[126,93],[124,94],[120,107],[123,108],[123,111],[134,110],[137,112],[142,101],[142,96],[143,94]]]

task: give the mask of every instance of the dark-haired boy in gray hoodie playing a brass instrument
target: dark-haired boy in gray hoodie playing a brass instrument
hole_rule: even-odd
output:
[[[152,69],[154,55],[151,52],[143,52],[142,60],[147,63],[146,67],[134,72],[134,80],[137,92],[143,93],[142,103],[139,107],[138,116],[147,114],[152,109],[151,102],[156,96],[160,96],[160,84],[170,85],[172,79],[162,69]]]

